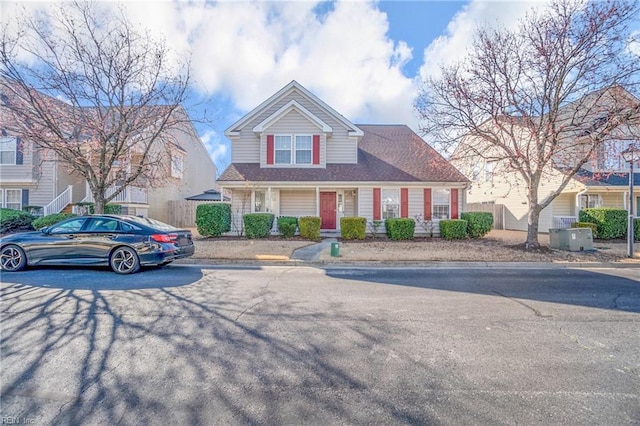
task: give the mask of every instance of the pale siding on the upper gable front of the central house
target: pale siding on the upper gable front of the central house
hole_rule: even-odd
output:
[[[357,162],[357,141],[348,137],[348,131],[344,127],[344,124],[338,122],[324,109],[320,108],[314,102],[311,102],[304,96],[297,92],[292,93],[276,102],[262,111],[261,114],[256,116],[253,120],[247,122],[242,129],[240,129],[240,135],[232,138],[231,149],[231,161],[233,163],[261,163],[263,166],[266,163],[266,143],[263,140],[261,143],[260,137],[253,132],[253,128],[267,119],[269,116],[277,112],[280,108],[286,105],[291,100],[295,100],[304,108],[306,108],[313,115],[327,123],[333,129],[333,133],[330,137],[325,139],[325,135],[321,137],[320,145],[320,165],[324,167],[326,163],[348,163],[353,164]],[[297,113],[296,113],[297,114]],[[291,116],[291,117],[289,117]],[[313,133],[318,134],[320,130],[315,124],[310,123],[308,119],[297,114],[297,120],[302,123],[296,123],[296,117],[293,114],[287,114],[281,118],[283,126],[280,123],[274,123],[269,128],[269,134],[277,133],[295,133],[292,130],[286,128],[286,125],[294,126],[298,128],[300,126],[308,128],[309,125],[315,129]]]

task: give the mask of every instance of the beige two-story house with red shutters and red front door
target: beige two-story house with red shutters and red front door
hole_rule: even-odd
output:
[[[218,186],[231,191],[235,226],[254,212],[319,216],[323,231],[341,217],[419,216],[438,233],[464,210],[468,180],[411,129],[353,124],[296,81],[225,135],[232,160]]]

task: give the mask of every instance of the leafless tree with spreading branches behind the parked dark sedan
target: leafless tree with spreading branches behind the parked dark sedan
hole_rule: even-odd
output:
[[[134,182],[167,179],[175,129],[189,120],[189,61],[122,9],[103,12],[74,2],[24,13],[0,40],[2,103],[13,115],[3,126],[84,178],[97,213]]]

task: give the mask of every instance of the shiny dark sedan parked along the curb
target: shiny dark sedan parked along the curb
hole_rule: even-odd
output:
[[[194,253],[191,231],[121,215],[79,216],[35,232],[0,238],[0,270],[29,265],[104,265],[132,274]]]

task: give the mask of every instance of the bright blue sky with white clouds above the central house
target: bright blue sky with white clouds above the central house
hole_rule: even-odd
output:
[[[119,5],[98,4],[105,13]],[[206,107],[214,111],[211,124],[196,127],[219,173],[230,162],[224,130],[294,79],[354,123],[417,129],[412,104],[421,79],[461,58],[477,25],[515,25],[541,5],[543,0],[123,3],[133,23],[164,36],[174,52],[191,55],[194,101],[211,99]],[[2,21],[16,10],[3,1]]]

